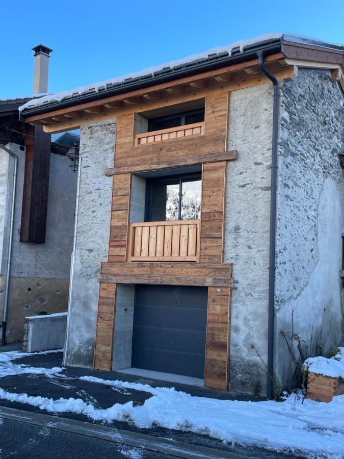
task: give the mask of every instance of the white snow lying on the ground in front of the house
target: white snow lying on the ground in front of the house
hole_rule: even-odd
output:
[[[63,368],[33,368],[11,363],[19,352],[8,352],[0,362],[0,376],[37,372],[50,376],[63,376]],[[19,355],[18,355],[19,354]],[[7,371],[3,367],[10,366]],[[15,367],[18,367],[17,369]],[[25,370],[30,371],[25,371]],[[17,373],[14,373],[17,371]],[[54,372],[54,373],[52,373]],[[244,402],[193,397],[173,388],[152,388],[120,380],[106,380],[82,376],[84,381],[113,388],[144,391],[152,395],[141,406],[133,401],[115,403],[108,409],[97,409],[93,403],[80,398],[52,398],[15,394],[0,389],[0,398],[29,403],[52,413],[78,413],[95,421],[132,422],[139,428],[161,426],[191,431],[212,438],[243,445],[257,445],[276,451],[294,451],[308,457],[344,456],[344,395],[329,403],[316,402],[292,395],[283,402]]]

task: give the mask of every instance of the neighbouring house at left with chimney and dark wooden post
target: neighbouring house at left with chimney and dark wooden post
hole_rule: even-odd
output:
[[[23,340],[25,316],[67,311],[68,305],[77,177],[67,153],[78,138],[66,133],[60,144],[57,136],[51,139],[41,126],[20,121],[18,110],[47,90],[48,49],[35,47],[34,85],[38,86],[34,90],[38,94],[0,100],[3,344]]]

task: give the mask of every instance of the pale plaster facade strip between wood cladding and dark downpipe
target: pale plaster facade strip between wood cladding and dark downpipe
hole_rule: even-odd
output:
[[[224,261],[233,263],[230,389],[262,394],[267,361],[272,85],[230,94]]]

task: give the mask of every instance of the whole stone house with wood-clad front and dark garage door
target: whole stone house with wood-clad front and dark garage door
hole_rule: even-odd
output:
[[[274,34],[21,107],[81,129],[65,364],[270,397],[342,342],[343,64]]]

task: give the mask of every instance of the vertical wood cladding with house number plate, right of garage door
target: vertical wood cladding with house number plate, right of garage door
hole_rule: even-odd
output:
[[[231,289],[208,288],[204,385],[228,388]]]

